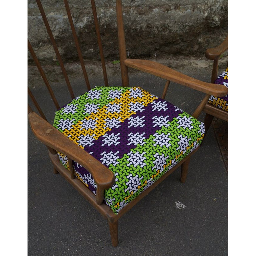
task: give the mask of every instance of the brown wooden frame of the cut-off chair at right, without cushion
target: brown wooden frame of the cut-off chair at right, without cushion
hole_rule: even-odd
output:
[[[217,79],[219,59],[227,51],[228,51],[228,36],[219,46],[206,50],[205,57],[209,60],[213,60],[211,83],[214,83],[214,81]],[[206,113],[204,118],[205,134],[208,131],[214,116],[228,122],[228,112],[220,108],[217,108],[208,102],[206,103],[203,111]]]

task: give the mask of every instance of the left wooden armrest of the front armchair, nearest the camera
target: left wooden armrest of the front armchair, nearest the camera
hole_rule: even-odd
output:
[[[28,113],[28,120],[38,140],[84,166],[92,174],[95,183],[101,189],[111,188],[115,184],[115,175],[113,172],[84,149],[77,146],[72,140],[69,140],[68,137],[42,117],[32,111]]]

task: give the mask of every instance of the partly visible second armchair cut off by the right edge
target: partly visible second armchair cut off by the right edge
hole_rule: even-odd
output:
[[[226,70],[218,76],[218,61],[227,51],[228,36],[219,46],[207,49],[205,57],[209,60],[213,60],[211,83],[224,84],[228,87],[228,64]],[[206,134],[214,116],[228,122],[228,95],[225,95],[224,97],[216,97],[216,95],[212,95],[203,111],[206,113],[204,118]]]

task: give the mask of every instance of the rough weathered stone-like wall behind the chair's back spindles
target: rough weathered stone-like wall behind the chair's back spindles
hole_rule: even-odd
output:
[[[105,57],[118,59],[115,0],[95,3]],[[65,61],[78,60],[63,1],[42,0],[42,4],[61,56]],[[84,59],[99,59],[91,1],[70,0],[69,5]],[[228,0],[123,0],[123,12],[130,58],[200,56],[228,34]],[[35,0],[28,0],[28,38],[41,61],[56,60]]]

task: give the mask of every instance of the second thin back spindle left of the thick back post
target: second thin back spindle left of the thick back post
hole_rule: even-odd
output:
[[[77,39],[77,36],[76,36],[76,29],[75,29],[75,26],[74,26],[74,23],[73,23],[73,20],[72,20],[72,16],[71,16],[71,12],[70,12],[70,9],[69,9],[68,1],[64,0],[64,4],[65,4],[65,8],[66,8],[66,11],[67,11],[67,14],[68,14],[68,20],[69,20],[69,24],[70,24],[70,27],[71,27],[71,30],[72,30],[73,37],[74,37],[74,41],[75,41],[75,44],[76,44],[76,50],[77,50],[77,53],[78,53],[80,64],[81,64],[81,67],[82,67],[82,70],[83,70],[85,83],[86,83],[87,89],[89,91],[89,90],[91,90],[91,87],[90,87],[90,83],[89,83],[88,76],[87,76],[87,73],[86,73],[86,69],[85,69],[85,66],[84,66],[84,60],[83,60],[82,52],[81,52],[81,49],[80,49],[80,46],[79,46],[79,43],[78,43],[78,39]]]

